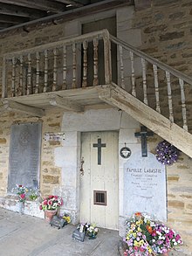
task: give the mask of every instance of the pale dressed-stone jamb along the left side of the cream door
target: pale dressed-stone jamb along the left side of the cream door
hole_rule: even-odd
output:
[[[64,200],[61,212],[68,213],[72,224],[79,223],[79,162],[80,162],[80,133],[65,132],[62,148],[55,151],[56,165],[62,168],[61,186],[55,191]]]

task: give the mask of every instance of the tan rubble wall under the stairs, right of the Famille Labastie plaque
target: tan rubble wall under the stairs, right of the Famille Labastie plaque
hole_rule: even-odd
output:
[[[155,135],[147,139],[149,150],[155,154],[158,142],[163,141]],[[182,252],[191,255],[192,252],[192,159],[182,152],[173,165],[167,166],[168,193],[168,225],[182,235]]]

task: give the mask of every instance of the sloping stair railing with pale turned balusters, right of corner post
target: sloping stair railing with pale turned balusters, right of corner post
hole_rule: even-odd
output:
[[[110,35],[110,41],[118,49],[119,86],[168,117],[171,122],[177,119],[178,124],[188,131],[187,113],[190,111],[187,110],[185,92],[190,100],[192,79],[118,38]],[[128,78],[130,83],[127,87],[125,80]]]

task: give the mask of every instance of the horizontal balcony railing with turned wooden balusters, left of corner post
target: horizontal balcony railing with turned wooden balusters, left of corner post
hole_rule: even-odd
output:
[[[102,83],[109,84],[109,44],[108,32],[96,31],[5,54],[2,97],[97,86],[101,83],[99,65],[103,66]],[[103,45],[101,51],[99,45]],[[91,58],[88,51],[92,51]],[[92,76],[88,73],[89,66],[92,66]]]

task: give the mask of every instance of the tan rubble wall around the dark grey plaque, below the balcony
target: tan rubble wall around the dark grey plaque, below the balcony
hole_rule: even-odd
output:
[[[61,147],[61,142],[45,142],[45,133],[60,132],[62,112],[48,114],[44,118],[30,118],[27,115],[16,113],[1,114],[0,121],[0,196],[6,195],[8,169],[9,169],[9,145],[10,145],[10,126],[13,123],[42,121],[42,154],[41,154],[41,173],[40,190],[43,195],[52,193],[52,189],[61,183],[60,168],[54,162],[54,150]]]

